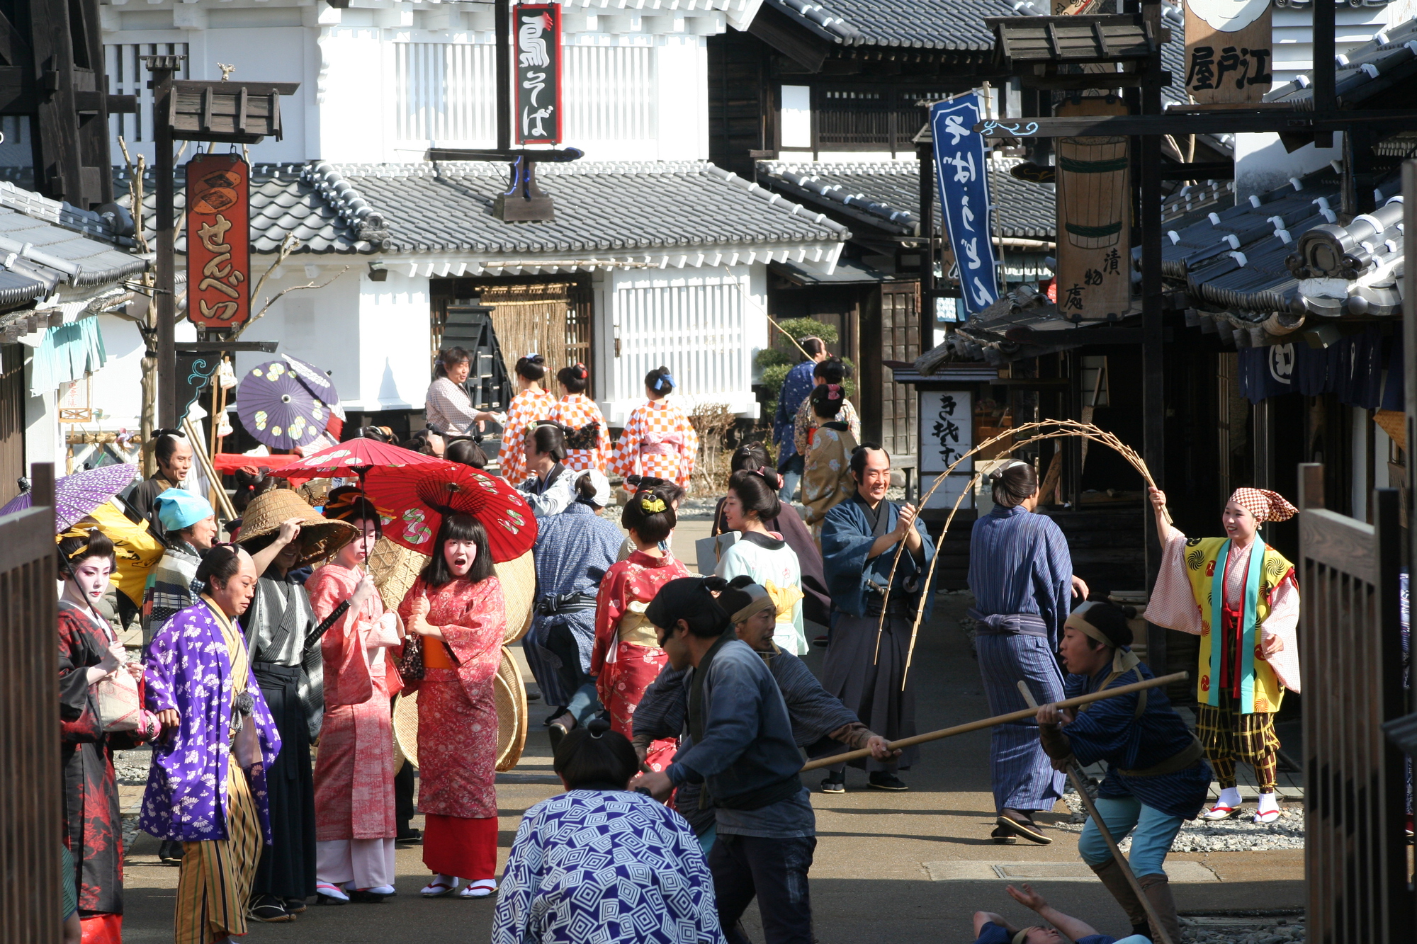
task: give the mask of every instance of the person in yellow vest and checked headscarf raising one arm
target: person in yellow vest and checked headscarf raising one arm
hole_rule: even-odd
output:
[[[1240,812],[1236,761],[1260,784],[1255,822],[1280,818],[1280,738],[1274,713],[1285,689],[1299,690],[1299,587],[1294,564],[1258,536],[1264,522],[1298,513],[1277,492],[1236,489],[1220,515],[1224,537],[1187,540],[1166,522],[1166,496],[1151,489],[1163,554],[1146,619],[1200,636],[1196,729],[1220,782],[1203,819]],[[1217,645],[1219,636],[1219,645]]]

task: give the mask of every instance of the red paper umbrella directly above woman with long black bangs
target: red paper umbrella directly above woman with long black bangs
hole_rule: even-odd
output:
[[[521,493],[469,465],[435,459],[374,466],[364,479],[364,495],[388,516],[384,536],[421,554],[432,556],[446,513],[472,515],[482,522],[497,563],[516,560],[536,544],[536,517]]]

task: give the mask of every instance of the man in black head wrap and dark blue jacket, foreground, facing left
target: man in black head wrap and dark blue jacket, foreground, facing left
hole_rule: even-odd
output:
[[[713,595],[724,585],[716,577],[672,580],[645,611],[670,665],[693,666],[689,737],[666,770],[631,787],[663,801],[676,787],[703,784],[699,805],[714,807],[718,833],[708,870],[730,944],[744,944],[735,927],[754,897],[768,944],[809,944],[816,816],[798,775],[802,755],[772,673],[728,632],[730,614]]]

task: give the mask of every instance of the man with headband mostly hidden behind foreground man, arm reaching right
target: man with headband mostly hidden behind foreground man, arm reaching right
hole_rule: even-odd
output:
[[[734,577],[718,592],[718,604],[734,608],[728,615],[734,635],[762,656],[772,672],[782,692],[782,700],[788,706],[792,737],[798,747],[815,754],[825,753],[826,748],[835,747],[832,741],[837,741],[846,744],[849,750],[866,747],[877,760],[890,760],[891,751],[886,746],[886,738],[871,733],[850,709],[842,704],[840,699],[823,689],[802,659],[772,642],[777,604],[765,587],[748,577]],[[635,737],[631,740],[642,758],[657,738],[679,737],[683,733],[689,713],[689,689],[684,678],[687,673],[687,669],[666,665],[635,709]],[[707,853],[717,836],[713,808],[700,809],[697,784],[686,784],[677,797],[679,812],[694,828]]]

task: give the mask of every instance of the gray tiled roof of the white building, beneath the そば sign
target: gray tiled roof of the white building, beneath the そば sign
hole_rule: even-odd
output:
[[[825,214],[707,162],[541,164],[537,181],[555,200],[548,223],[492,215],[506,177],[504,164],[480,162],[258,166],[252,249],[275,252],[289,232],[299,251],[319,254],[663,251],[849,235]],[[145,210],[147,217],[150,198]],[[177,249],[186,249],[181,240]]]

